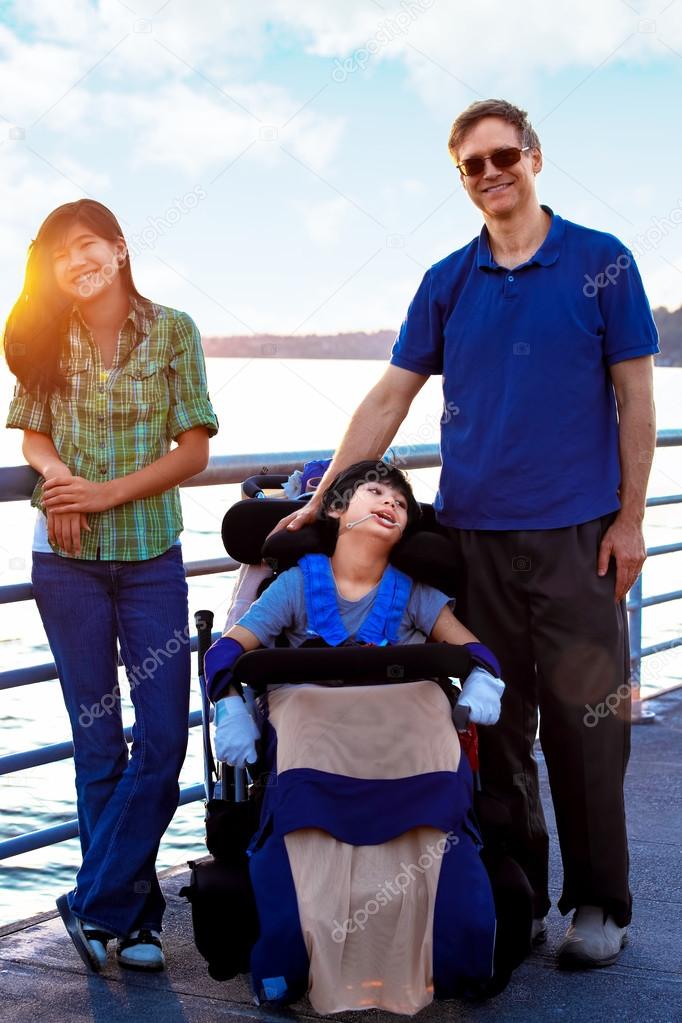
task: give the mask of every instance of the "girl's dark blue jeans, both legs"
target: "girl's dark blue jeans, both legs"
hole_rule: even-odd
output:
[[[179,546],[144,562],[34,551],[33,587],[74,736],[83,864],[74,914],[125,936],[161,930],[154,862],[187,748],[189,627]],[[135,708],[123,735],[118,650]]]

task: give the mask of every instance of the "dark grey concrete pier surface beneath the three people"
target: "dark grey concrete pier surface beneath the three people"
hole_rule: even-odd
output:
[[[633,728],[626,783],[632,890],[630,942],[603,970],[564,973],[553,950],[565,926],[555,908],[549,940],[516,971],[502,994],[482,1005],[438,1002],[413,1017],[418,1023],[682,1023],[682,692],[647,706],[651,725]],[[552,833],[552,896],[558,897],[560,860],[547,777],[539,753],[544,803]],[[164,879],[169,908],[164,944],[168,971],[146,976],[106,969],[89,974],[54,914],[0,931],[0,1020],[12,1023],[217,1023],[225,1020],[307,1020],[320,1017],[307,1002],[277,1012],[254,1005],[247,977],[212,980],[194,947],[189,905],[178,895],[187,870]],[[55,892],[55,896],[60,892]],[[226,922],[226,927],[238,921]],[[112,946],[109,946],[112,948]],[[377,1010],[339,1013],[340,1023],[390,1023]]]

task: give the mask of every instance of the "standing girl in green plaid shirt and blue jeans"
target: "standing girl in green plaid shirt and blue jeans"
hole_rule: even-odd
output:
[[[8,427],[40,474],[33,587],[74,736],[83,863],[57,906],[94,971],[158,970],[154,861],[178,803],[189,704],[178,484],[218,428],[185,313],[144,299],[113,214],[54,210],[29,250],[4,336]],[[173,443],[173,447],[171,447]],[[135,709],[128,750],[119,651]]]

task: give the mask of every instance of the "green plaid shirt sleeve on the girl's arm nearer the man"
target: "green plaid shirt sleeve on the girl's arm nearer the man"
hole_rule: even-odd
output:
[[[207,389],[201,337],[186,313],[178,316],[174,325],[170,370],[169,436],[176,438],[194,427],[206,427],[213,437],[218,433],[218,419]]]

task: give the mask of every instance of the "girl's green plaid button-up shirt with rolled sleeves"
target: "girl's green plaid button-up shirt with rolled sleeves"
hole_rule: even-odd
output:
[[[218,420],[207,392],[199,332],[186,313],[133,300],[110,369],[75,308],[60,360],[66,385],[49,396],[16,385],[7,426],[48,434],[74,476],[103,482],[165,455],[171,441]],[[41,479],[31,503],[42,506]],[[145,561],[182,530],[178,487],[90,515],[81,558]],[[57,553],[63,551],[55,548]],[[99,555],[97,551],[99,550]]]

